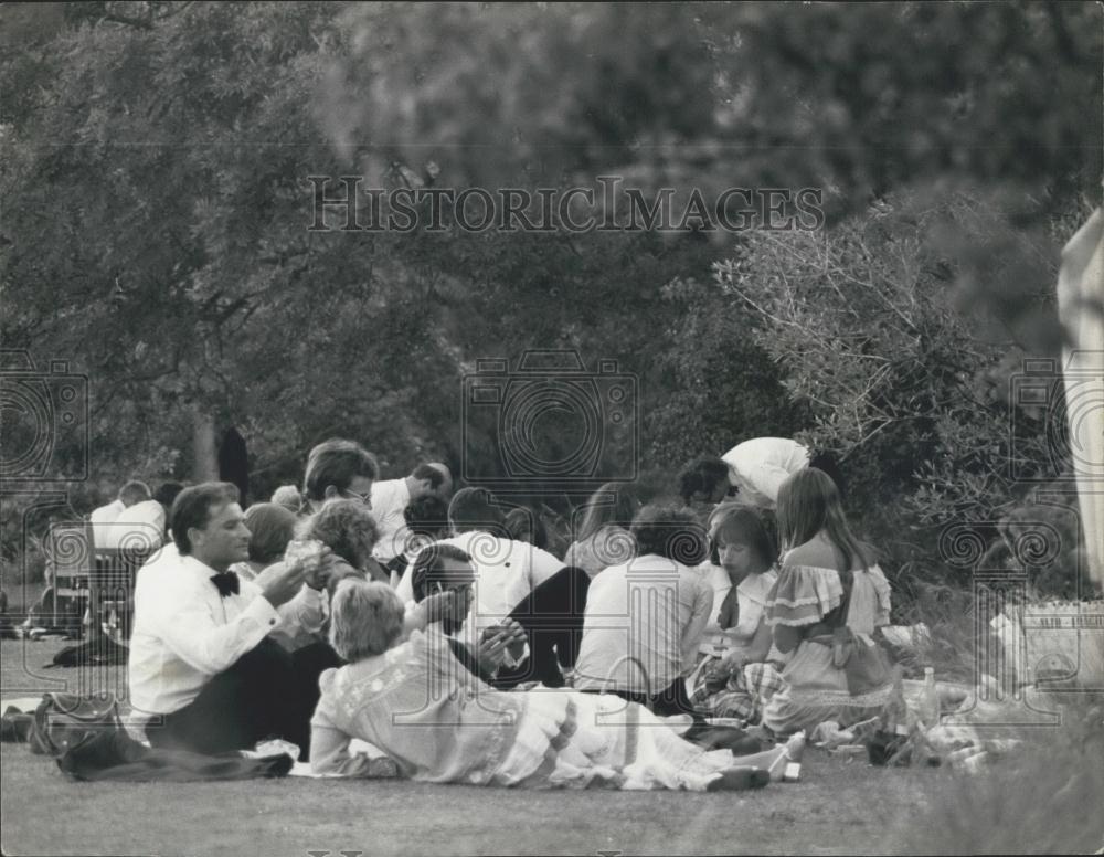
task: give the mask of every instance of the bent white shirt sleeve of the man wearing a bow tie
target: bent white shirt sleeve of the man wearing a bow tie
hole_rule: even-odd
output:
[[[262,595],[225,625],[215,624],[206,605],[195,599],[166,597],[159,600],[152,613],[164,645],[181,660],[210,676],[232,666],[279,622],[279,614]]]

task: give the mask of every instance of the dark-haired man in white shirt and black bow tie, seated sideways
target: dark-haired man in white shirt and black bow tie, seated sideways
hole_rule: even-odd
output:
[[[285,563],[263,586],[230,572],[248,556],[237,500],[229,483],[204,483],[177,497],[176,556],[138,574],[130,701],[148,716],[155,747],[219,753],[278,736],[306,751],[309,690],[320,669],[297,670],[294,656],[268,634],[279,623],[277,607],[315,569]]]

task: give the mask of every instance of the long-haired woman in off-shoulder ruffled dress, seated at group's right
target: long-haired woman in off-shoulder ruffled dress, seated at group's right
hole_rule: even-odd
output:
[[[889,624],[890,586],[872,550],[848,527],[831,477],[798,470],[778,491],[786,550],[767,599],[767,623],[782,653],[785,687],[763,710],[775,734],[848,726],[878,713],[893,692],[885,656],[872,639]]]

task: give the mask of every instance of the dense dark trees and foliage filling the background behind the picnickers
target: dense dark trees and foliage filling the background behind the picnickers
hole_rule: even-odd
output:
[[[464,377],[540,348],[638,380],[656,489],[784,434],[843,457],[879,533],[991,520],[1022,494],[1008,456],[1045,426],[1010,449],[1002,391],[1060,342],[1055,247],[1100,197],[1098,6],[0,13],[3,342],[89,377],[93,476],[190,477],[204,421],[246,437],[257,496],[335,434],[389,476],[460,469]],[[310,231],[308,177],[347,174],[810,187],[827,222]],[[917,533],[899,557],[938,567]]]

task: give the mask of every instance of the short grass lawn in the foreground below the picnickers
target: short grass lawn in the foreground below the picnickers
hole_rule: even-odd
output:
[[[4,697],[91,688],[43,670],[64,643],[4,641]],[[112,681],[99,667],[100,680]],[[89,674],[95,670],[88,670]],[[760,792],[523,792],[394,781],[78,783],[0,750],[4,855],[864,854],[901,851],[925,794],[955,775],[806,753],[802,782]],[[960,779],[960,777],[958,777]],[[915,842],[911,836],[905,838]]]

